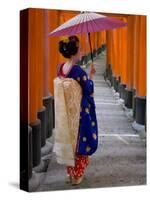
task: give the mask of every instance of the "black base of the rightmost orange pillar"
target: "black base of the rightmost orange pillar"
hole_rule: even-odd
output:
[[[136,96],[135,120],[138,124],[146,125],[146,97]]]

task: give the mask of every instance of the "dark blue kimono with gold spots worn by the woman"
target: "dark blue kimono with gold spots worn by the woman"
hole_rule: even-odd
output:
[[[58,68],[58,76],[62,74],[62,66]],[[65,78],[75,79],[82,88],[81,111],[77,155],[92,155],[98,146],[98,124],[94,102],[94,83],[88,79],[87,73],[79,66],[74,65]]]

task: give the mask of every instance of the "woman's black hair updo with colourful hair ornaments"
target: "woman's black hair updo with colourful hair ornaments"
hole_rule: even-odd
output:
[[[76,55],[79,49],[79,39],[77,36],[70,36],[59,42],[59,52],[65,58]]]

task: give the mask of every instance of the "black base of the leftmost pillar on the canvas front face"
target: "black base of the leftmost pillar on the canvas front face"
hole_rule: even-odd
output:
[[[35,167],[41,162],[41,121],[38,119],[36,122],[31,123],[30,126],[32,127],[32,164]]]

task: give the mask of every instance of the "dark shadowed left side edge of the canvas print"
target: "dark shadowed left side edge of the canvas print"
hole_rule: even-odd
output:
[[[32,128],[28,126],[28,9],[20,11],[20,188],[29,191],[32,176]],[[37,120],[36,107],[32,119]],[[31,117],[30,117],[31,119]]]

